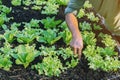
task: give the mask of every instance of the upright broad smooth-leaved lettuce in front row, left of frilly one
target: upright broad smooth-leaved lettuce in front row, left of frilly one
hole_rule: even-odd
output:
[[[15,54],[12,56],[16,59],[16,64],[23,65],[27,68],[30,62],[34,61],[35,57],[39,56],[39,51],[35,50],[35,46],[19,45],[15,48]]]

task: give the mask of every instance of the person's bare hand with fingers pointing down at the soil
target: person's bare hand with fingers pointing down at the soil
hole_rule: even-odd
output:
[[[72,47],[74,54],[78,54],[78,57],[80,59],[81,54],[82,54],[81,52],[82,52],[82,49],[83,49],[82,37],[80,37],[80,36],[73,37],[73,39],[70,43],[70,46]]]

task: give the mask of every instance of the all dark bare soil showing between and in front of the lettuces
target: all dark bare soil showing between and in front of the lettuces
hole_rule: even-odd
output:
[[[41,19],[45,19],[47,16],[48,17],[55,16],[56,20],[62,20],[62,21],[65,20],[64,9],[66,6],[63,6],[63,5],[59,7],[58,9],[59,11],[57,15],[55,14],[46,15],[46,14],[41,14],[39,10],[32,10],[30,6],[26,7],[28,8],[27,10],[24,9],[25,8],[24,5],[13,6],[11,4],[11,0],[2,0],[2,2],[5,6],[12,7],[12,10],[9,14],[7,14],[7,17],[14,17],[14,19],[10,19],[9,22],[4,23],[8,26],[8,28],[10,28],[10,25],[13,22],[16,22],[16,23],[30,22],[31,19],[41,20]],[[85,20],[87,21],[86,17],[83,17],[80,19],[81,22],[84,22]],[[89,20],[87,22],[92,24],[94,23]],[[98,23],[98,24],[101,24],[101,23]],[[22,31],[24,29],[23,25],[24,24],[22,24],[19,27],[19,30]],[[44,29],[43,24],[39,24],[39,26]],[[4,34],[4,32],[5,31],[2,28],[0,28],[0,34]],[[101,31],[97,31],[95,33],[98,34],[99,32]],[[5,42],[4,39],[0,40],[0,47],[3,47],[4,42]],[[44,44],[44,43],[42,44],[42,42],[38,42],[36,40],[34,40],[30,44],[33,44],[33,43],[36,44],[36,47],[35,47],[36,49],[39,49],[41,45],[51,47],[51,45]],[[24,45],[24,44],[25,43],[18,43],[17,40],[11,43],[13,48],[18,45]],[[103,46],[103,44],[100,44],[99,41],[97,45]],[[62,39],[58,40],[55,43],[56,48],[60,48],[60,47],[66,48],[68,46],[69,45],[64,43]],[[15,58],[11,58],[11,61],[13,62],[12,67],[10,68],[9,71],[0,69],[0,80],[120,80],[119,70],[115,72],[114,71],[106,72],[106,71],[102,71],[101,69],[96,69],[96,70],[90,69],[88,65],[89,61],[86,59],[84,54],[82,55],[81,60],[78,62],[78,64],[75,67],[68,68],[67,70],[63,71],[58,77],[46,76],[44,74],[39,75],[35,69],[31,69],[31,66],[33,64],[36,64],[39,60],[42,60],[42,59],[43,59],[42,56],[37,56],[29,64],[29,66],[25,68],[23,65],[17,65],[15,63],[16,62]],[[64,63],[64,60],[63,60],[63,63]]]

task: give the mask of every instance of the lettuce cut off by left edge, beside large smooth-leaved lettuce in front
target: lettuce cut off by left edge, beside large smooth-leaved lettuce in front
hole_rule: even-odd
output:
[[[9,71],[12,67],[11,55],[14,53],[14,49],[8,42],[4,42],[3,47],[0,48],[0,68]]]

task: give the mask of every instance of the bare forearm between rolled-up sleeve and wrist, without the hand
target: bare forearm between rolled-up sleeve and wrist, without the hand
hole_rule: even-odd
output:
[[[81,36],[80,34],[80,30],[78,27],[78,21],[77,18],[75,17],[75,15],[73,13],[68,13],[65,16],[68,28],[70,29],[72,36],[76,37],[76,36]]]

